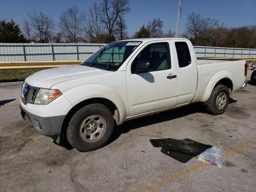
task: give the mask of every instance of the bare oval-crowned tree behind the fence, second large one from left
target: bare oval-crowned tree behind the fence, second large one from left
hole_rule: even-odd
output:
[[[64,36],[71,42],[75,42],[83,30],[84,13],[80,12],[77,6],[68,8],[60,16],[59,27]]]

